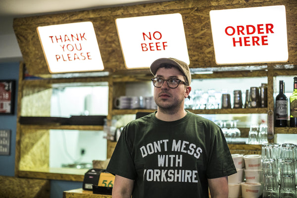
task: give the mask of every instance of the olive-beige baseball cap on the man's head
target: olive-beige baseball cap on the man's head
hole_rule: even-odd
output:
[[[157,70],[159,67],[163,65],[172,65],[177,67],[181,72],[183,72],[184,76],[186,77],[186,80],[188,82],[188,85],[191,85],[191,72],[189,65],[181,60],[178,60],[176,58],[159,58],[153,61],[150,65],[150,72],[152,75],[156,75]]]

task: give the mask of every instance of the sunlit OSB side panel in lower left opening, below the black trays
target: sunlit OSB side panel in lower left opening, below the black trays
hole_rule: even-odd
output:
[[[21,128],[19,170],[49,167],[49,130]]]

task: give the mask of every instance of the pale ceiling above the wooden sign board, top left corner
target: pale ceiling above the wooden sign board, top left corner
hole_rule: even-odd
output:
[[[168,0],[0,0],[0,35],[12,34],[13,18]]]

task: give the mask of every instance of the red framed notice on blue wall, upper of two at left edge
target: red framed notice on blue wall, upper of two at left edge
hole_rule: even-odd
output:
[[[15,81],[0,81],[0,114],[14,113]]]

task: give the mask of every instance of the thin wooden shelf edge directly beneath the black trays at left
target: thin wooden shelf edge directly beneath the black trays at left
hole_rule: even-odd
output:
[[[57,130],[85,130],[85,131],[103,131],[102,125],[59,125],[59,124],[22,124],[23,129],[57,129]]]

